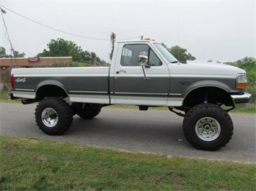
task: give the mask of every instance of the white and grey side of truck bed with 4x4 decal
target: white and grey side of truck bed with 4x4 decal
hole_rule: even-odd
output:
[[[14,97],[35,98],[45,85],[58,85],[70,101],[109,103],[109,67],[47,67],[13,69]]]

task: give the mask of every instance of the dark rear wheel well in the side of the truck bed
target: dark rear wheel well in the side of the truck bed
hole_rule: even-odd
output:
[[[58,85],[43,85],[37,89],[36,98],[43,99],[45,97],[68,97],[63,88]]]

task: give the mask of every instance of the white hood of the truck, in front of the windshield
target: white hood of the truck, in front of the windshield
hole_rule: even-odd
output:
[[[169,71],[172,74],[182,75],[232,75],[237,76],[239,73],[246,73],[239,67],[224,65],[211,62],[189,62],[187,64],[169,64]]]

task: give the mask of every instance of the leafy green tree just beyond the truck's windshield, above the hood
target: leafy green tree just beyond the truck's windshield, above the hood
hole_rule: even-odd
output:
[[[163,47],[165,47],[171,54],[179,61],[181,62],[186,62],[187,60],[195,60],[195,57],[191,55],[189,52],[187,53],[187,49],[179,47],[179,46],[174,46],[171,48],[168,48],[167,45],[164,45],[162,42]]]

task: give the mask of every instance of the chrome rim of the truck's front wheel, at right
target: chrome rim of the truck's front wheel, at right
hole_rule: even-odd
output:
[[[203,141],[213,141],[221,134],[221,125],[215,118],[200,118],[195,124],[195,133]]]

